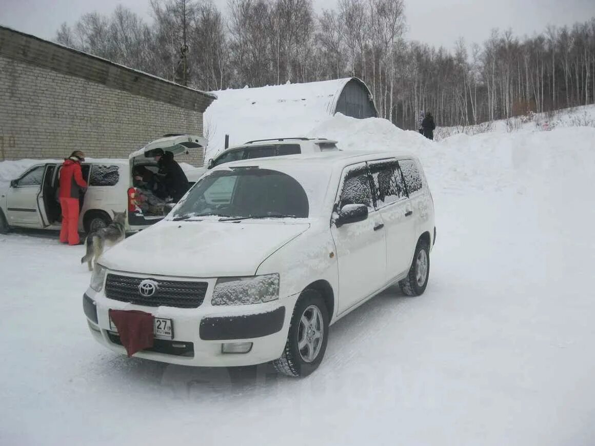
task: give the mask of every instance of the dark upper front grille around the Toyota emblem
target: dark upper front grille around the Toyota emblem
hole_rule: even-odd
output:
[[[145,278],[108,274],[105,282],[105,296],[108,299],[135,303],[149,307],[196,308],[205,299],[206,282],[157,280],[158,287],[153,296],[140,294],[139,285]]]

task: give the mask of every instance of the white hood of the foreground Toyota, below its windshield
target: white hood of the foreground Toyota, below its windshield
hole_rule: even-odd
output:
[[[308,223],[162,221],[109,249],[109,269],[180,277],[250,276],[268,256],[309,228]]]

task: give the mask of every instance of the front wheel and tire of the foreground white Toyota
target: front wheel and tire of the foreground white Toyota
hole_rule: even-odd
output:
[[[309,325],[312,331],[307,331],[306,322],[313,324]],[[303,291],[293,309],[285,349],[281,357],[273,361],[273,366],[283,375],[308,376],[322,362],[327,349],[327,340],[327,306],[318,291],[307,289]],[[303,343],[301,349],[300,343]]]

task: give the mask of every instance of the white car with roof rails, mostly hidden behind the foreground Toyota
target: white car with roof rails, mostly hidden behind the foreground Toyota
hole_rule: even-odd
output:
[[[209,169],[226,162],[269,158],[271,156],[308,155],[310,153],[333,152],[334,150],[339,150],[337,142],[326,138],[257,139],[223,150],[215,158],[209,159],[206,167],[199,167],[190,171],[188,180],[195,182]]]

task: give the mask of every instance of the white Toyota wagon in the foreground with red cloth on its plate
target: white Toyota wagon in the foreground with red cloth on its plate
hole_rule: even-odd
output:
[[[329,325],[394,284],[424,293],[435,238],[414,156],[233,162],[105,253],[83,309],[93,337],[118,353],[109,310],[141,310],[154,317],[154,346],[134,356],[192,366],[273,361],[305,376],[324,356]]]

